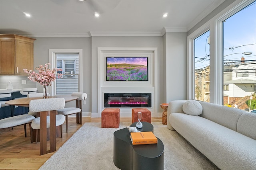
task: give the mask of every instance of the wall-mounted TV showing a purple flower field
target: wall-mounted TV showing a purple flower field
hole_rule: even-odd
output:
[[[106,57],[106,81],[148,81],[148,57]]]

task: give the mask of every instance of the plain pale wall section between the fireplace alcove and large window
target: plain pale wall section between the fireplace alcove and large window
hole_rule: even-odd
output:
[[[166,33],[166,102],[187,99],[187,33]]]

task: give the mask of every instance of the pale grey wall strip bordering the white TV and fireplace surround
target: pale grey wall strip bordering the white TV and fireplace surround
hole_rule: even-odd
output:
[[[158,48],[158,82],[162,82],[162,37],[91,37],[92,41],[92,113],[97,113],[97,48],[98,47],[156,47]],[[159,87],[160,86],[160,87]],[[163,90],[162,83],[158,84],[158,92]],[[162,96],[157,96],[160,101]],[[159,103],[158,103],[159,105]],[[158,106],[158,112],[162,112]]]

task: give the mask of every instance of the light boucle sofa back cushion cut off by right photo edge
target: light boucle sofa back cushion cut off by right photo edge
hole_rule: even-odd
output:
[[[256,140],[256,113],[242,114],[237,122],[237,132]]]

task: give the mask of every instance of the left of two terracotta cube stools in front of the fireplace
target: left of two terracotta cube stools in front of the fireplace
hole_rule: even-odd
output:
[[[118,128],[120,123],[120,109],[106,108],[101,112],[102,128]]]

